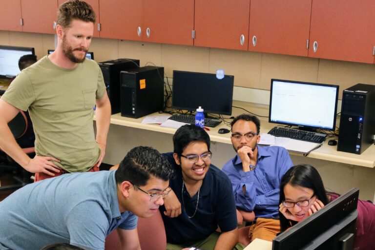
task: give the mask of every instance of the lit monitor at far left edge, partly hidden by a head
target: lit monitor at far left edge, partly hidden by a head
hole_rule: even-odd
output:
[[[20,73],[18,61],[21,56],[35,55],[34,48],[0,45],[0,78],[12,78]]]

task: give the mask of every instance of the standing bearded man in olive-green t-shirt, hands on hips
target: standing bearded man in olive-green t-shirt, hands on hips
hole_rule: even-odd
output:
[[[68,172],[98,171],[103,161],[111,108],[101,69],[85,59],[95,19],[84,1],[60,5],[56,50],[22,70],[1,97],[0,147],[36,173],[36,181]],[[29,110],[33,121],[33,159],[17,145],[7,125],[19,109]]]

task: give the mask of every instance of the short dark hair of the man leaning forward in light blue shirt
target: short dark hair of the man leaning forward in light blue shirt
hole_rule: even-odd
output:
[[[173,170],[159,151],[149,146],[131,149],[115,173],[118,184],[129,181],[137,186],[145,186],[151,177],[168,181],[173,177]]]

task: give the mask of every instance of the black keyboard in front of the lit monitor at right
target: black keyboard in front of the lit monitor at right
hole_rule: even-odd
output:
[[[295,128],[286,128],[286,127],[280,127],[280,126],[273,127],[268,133],[274,136],[288,137],[288,138],[312,142],[312,143],[322,143],[324,142],[327,136],[321,133],[308,132],[308,131],[299,130]]]

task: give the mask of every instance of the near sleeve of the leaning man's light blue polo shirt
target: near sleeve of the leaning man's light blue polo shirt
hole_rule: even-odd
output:
[[[70,244],[87,250],[104,250],[109,222],[103,208],[95,201],[84,201],[66,217]]]

